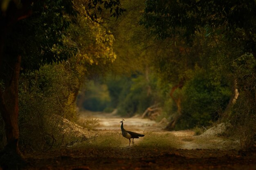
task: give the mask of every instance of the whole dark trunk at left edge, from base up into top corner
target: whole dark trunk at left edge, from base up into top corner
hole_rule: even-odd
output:
[[[7,1],[7,8],[0,9],[0,113],[4,120],[4,130],[7,145],[0,151],[0,166],[2,169],[20,169],[25,165],[18,148],[18,81],[20,74],[20,55],[5,55],[4,46],[7,32],[18,20],[29,17],[32,13],[31,3],[34,0],[23,0],[20,7],[14,1]],[[2,7],[2,4],[0,4]],[[1,169],[1,168],[0,168]]]

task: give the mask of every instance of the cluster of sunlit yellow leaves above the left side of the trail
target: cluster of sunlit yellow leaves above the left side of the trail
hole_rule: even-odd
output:
[[[69,37],[67,41],[78,49],[76,56],[70,62],[83,82],[82,79],[86,75],[100,73],[100,70],[115,61],[117,55],[112,49],[114,36],[106,29],[106,25],[100,24],[103,20],[101,18],[92,20],[82,3],[76,2],[75,6],[79,15],[67,31]],[[94,68],[97,68],[97,71],[92,71]]]

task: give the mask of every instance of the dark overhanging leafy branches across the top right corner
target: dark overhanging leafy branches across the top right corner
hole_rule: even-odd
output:
[[[141,24],[158,38],[181,36],[189,45],[206,30],[206,36],[222,35],[256,58],[255,19],[254,0],[148,0]]]

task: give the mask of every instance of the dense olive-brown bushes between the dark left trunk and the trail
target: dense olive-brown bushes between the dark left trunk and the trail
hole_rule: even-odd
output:
[[[69,100],[74,75],[63,64],[45,65],[22,74],[19,88],[20,146],[22,150],[47,150],[65,144],[63,118],[74,120],[76,106]]]

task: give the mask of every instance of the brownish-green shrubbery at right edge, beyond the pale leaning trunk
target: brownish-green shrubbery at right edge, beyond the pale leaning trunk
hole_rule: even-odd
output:
[[[229,115],[229,135],[240,141],[241,148],[248,149],[256,142],[256,60],[252,55],[243,55],[232,67],[239,96]]]

